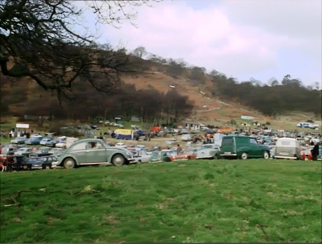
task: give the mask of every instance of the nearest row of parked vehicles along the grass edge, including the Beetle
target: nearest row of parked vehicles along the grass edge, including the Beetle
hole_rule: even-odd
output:
[[[59,155],[54,153],[48,155],[46,153],[49,153],[49,149],[60,150],[60,153]],[[177,147],[161,150],[157,146],[149,149],[143,145],[126,146],[124,143],[112,146],[100,139],[83,139],[77,140],[65,150],[61,148],[40,147],[37,151],[30,151],[28,147],[21,147],[16,149],[13,154],[29,156],[29,158],[52,157],[48,167],[44,163],[40,164],[40,161],[44,162],[44,160],[28,159],[30,163],[33,162],[34,169],[37,169],[37,167],[43,169],[44,167],[54,168],[57,166],[72,169],[82,165],[110,164],[121,166],[132,163],[173,162],[202,158],[239,158],[244,160],[248,158],[269,159],[272,157],[301,158],[299,143],[294,138],[277,139],[275,148],[272,150],[270,146],[258,143],[256,138],[244,135],[226,135],[223,136],[220,146],[204,144],[200,148],[189,148],[180,151],[180,153],[177,153]],[[321,154],[322,152],[320,153],[320,160],[322,159]]]

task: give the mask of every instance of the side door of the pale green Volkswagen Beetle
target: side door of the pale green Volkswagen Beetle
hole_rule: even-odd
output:
[[[90,142],[86,145],[87,163],[106,163],[106,148],[100,142]]]

